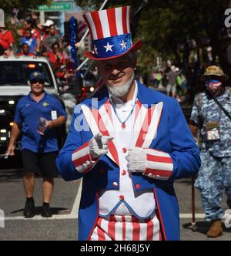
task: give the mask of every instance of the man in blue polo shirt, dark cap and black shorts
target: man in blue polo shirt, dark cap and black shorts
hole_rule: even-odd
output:
[[[49,201],[52,197],[54,177],[58,174],[55,158],[59,150],[55,128],[62,126],[66,120],[62,104],[59,99],[45,92],[44,83],[42,72],[32,72],[31,92],[18,101],[7,150],[10,156],[15,155],[15,141],[22,133],[23,184],[27,197],[25,217],[35,215],[35,173],[41,173],[43,177],[42,217],[52,217]]]

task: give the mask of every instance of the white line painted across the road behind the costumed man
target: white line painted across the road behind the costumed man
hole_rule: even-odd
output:
[[[77,200],[76,200],[77,201]],[[25,218],[24,216],[15,216],[15,217],[5,217],[5,221],[55,221],[55,220],[76,220],[78,217],[73,216],[75,211],[72,214],[54,214],[52,217],[42,217],[35,216],[32,218]],[[195,214],[196,219],[203,219],[205,214]],[[223,219],[229,217],[229,214],[225,214]],[[179,214],[180,219],[191,219],[192,214]]]

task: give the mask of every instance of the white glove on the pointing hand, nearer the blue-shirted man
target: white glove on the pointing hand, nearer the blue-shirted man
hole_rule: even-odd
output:
[[[92,158],[98,158],[108,153],[108,143],[113,140],[111,136],[102,136],[102,133],[97,133],[89,141],[89,153]]]

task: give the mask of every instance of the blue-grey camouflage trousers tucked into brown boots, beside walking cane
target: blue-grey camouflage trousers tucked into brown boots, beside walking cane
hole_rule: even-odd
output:
[[[200,190],[206,221],[213,221],[224,214],[221,207],[223,190],[231,209],[231,157],[213,157],[207,151],[202,151],[200,157],[202,165],[194,186]]]

